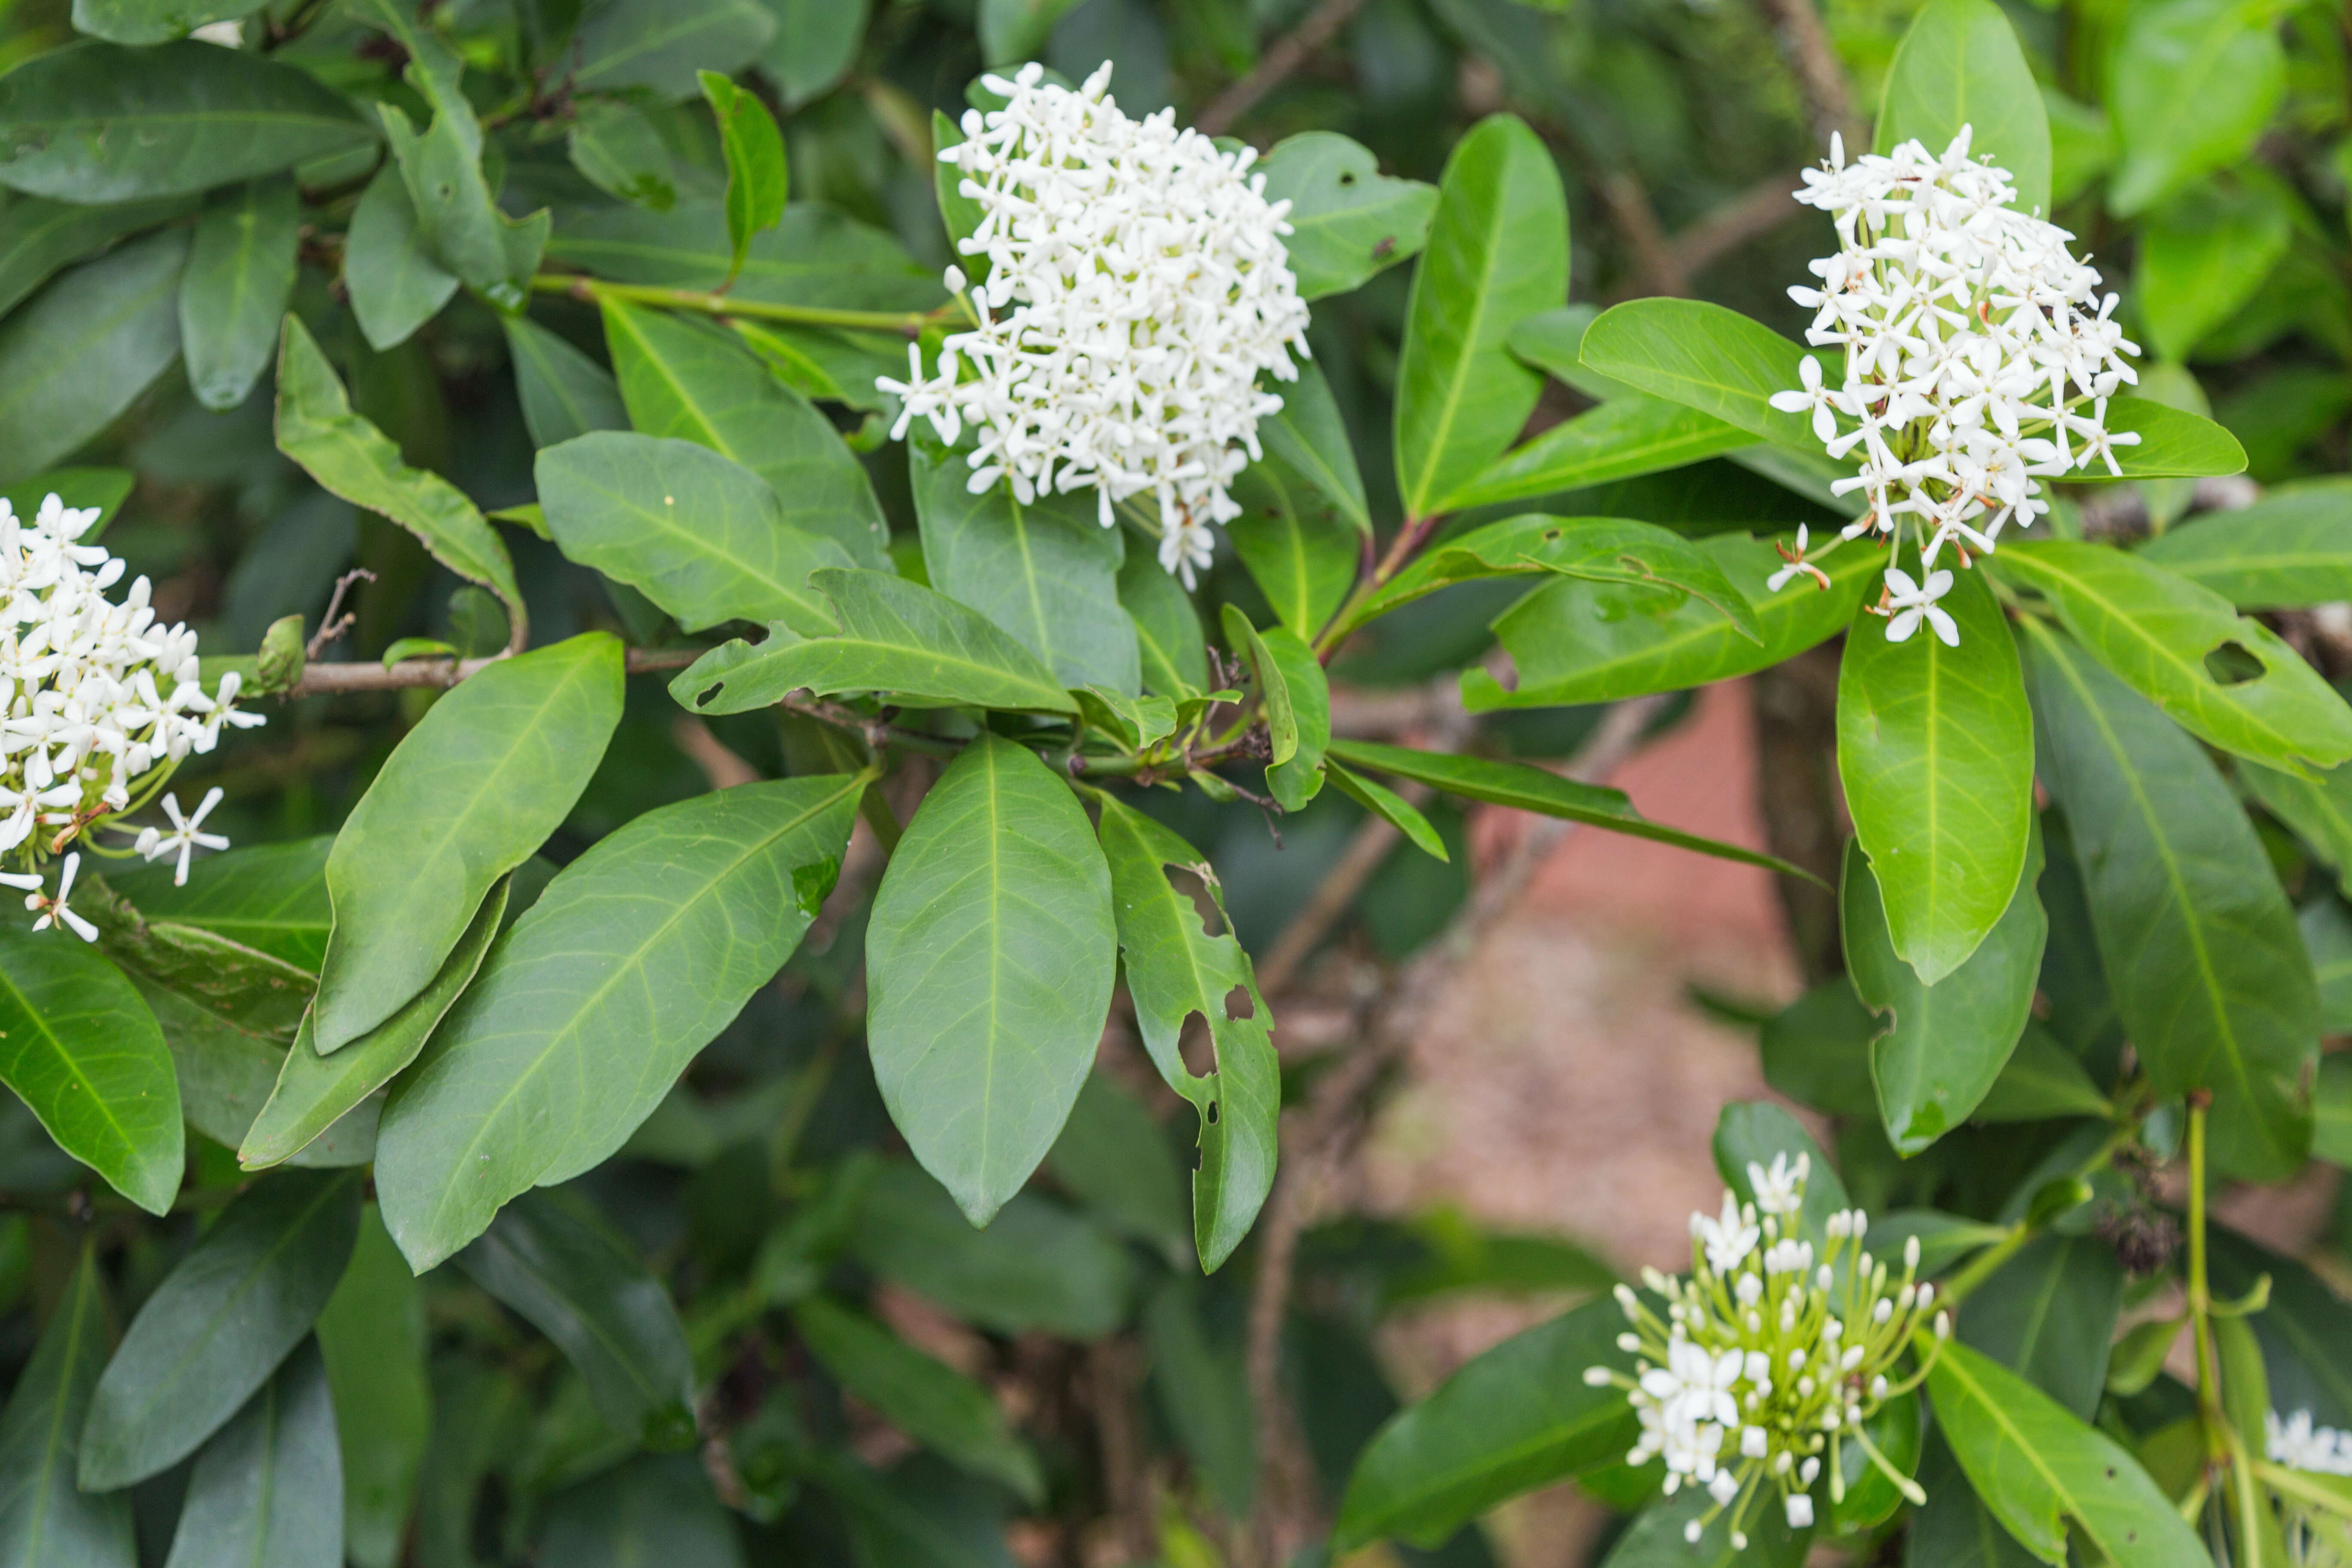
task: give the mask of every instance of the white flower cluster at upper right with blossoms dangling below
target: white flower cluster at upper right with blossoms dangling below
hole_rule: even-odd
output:
[[[2124,355],[2140,353],[2110,320],[2114,294],[2100,299],[2098,270],[2067,252],[2074,235],[2011,205],[2016,186],[1969,158],[1969,134],[1964,125],[1943,158],[1905,141],[1851,165],[1832,141],[1797,193],[1837,221],[1837,254],[1811,266],[1818,289],[1790,299],[1816,313],[1806,343],[1842,348],[1846,369],[1832,386],[1806,355],[1804,386],[1771,407],[1811,414],[1832,458],[1860,449],[1860,473],[1832,487],[1870,503],[1844,538],[1917,541],[1924,581],[1891,567],[1875,607],[1889,642],[1926,623],[1957,646],[1959,628],[1936,607],[1952,588],[1936,567],[1943,548],[1966,567],[2009,522],[2023,529],[2049,510],[2042,480],[2093,463],[2119,475],[2114,447],[2140,440],[2107,430],[2107,400],[2138,381]],[[1795,571],[1828,588],[1802,538],[1783,555],[1776,590]]]

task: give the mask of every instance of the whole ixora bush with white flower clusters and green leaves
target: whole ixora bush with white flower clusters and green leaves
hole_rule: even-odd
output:
[[[1639,1514],[1621,1568],[2352,1556],[2352,1307],[2209,1220],[2218,1180],[2345,1152],[2317,973],[2352,917],[2298,924],[2244,797],[2345,853],[2352,708],[2246,611],[2352,597],[2352,543],[2291,501],[2091,536],[2079,487],[2244,451],[2131,395],[1999,9],[1931,0],[1877,150],[1806,176],[1835,226],[1806,343],[1569,306],[1559,169],[1512,115],[1432,188],[1327,132],[1256,158],[1134,118],[1108,71],[981,75],[929,146],[877,82],[934,165],[934,270],[786,200],[746,80],[800,94],[804,61],[762,54],[757,5],[181,35],[235,9],[80,0],[94,38],[0,75],[0,369],[49,376],[0,393],[33,517],[0,520],[31,896],[0,1081],[38,1121],[0,1279],[45,1309],[0,1561],[141,1561],[134,1512],[172,1563],[1004,1561],[1009,1514],[1091,1483],[877,1281],[1000,1340],[1134,1326],[1188,1497],[1247,1516],[1254,1389],[1202,1300],[1275,1267],[1247,1248],[1287,1084],[1185,827],[1336,795],[1446,860],[1451,797],[1804,875],[1486,745],[1341,733],[1327,670],[1465,592],[1501,649],[1461,670],[1470,715],[1844,635],[1846,973],[1764,1039],[1844,1131],[1832,1161],[1729,1107],[1691,1269],[1348,1427],[1334,1549],[1439,1547],[1576,1479]],[[1406,261],[1390,515],[1308,327]],[[485,510],[395,440],[419,334],[508,367],[529,501]],[[108,599],[127,477],[59,463],[174,362],[198,404],[268,409],[280,484],[381,520],[362,618],[383,578],[452,614],[329,661],[343,581],[198,661],[143,578]],[[1522,440],[1548,376],[1592,407]],[[1738,517],[1632,484],[1719,456]],[[191,867],[261,769],[151,820],[259,701],[278,733],[395,691],[332,837]],[[750,778],[647,806],[647,726]],[[1195,1112],[1188,1204],[1096,1070],[1115,1009]],[[870,1418],[924,1455],[877,1465]]]

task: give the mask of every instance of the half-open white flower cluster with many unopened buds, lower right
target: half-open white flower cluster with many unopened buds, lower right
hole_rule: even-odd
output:
[[[1903,1246],[1903,1276],[1889,1281],[1886,1265],[1863,1251],[1870,1220],[1858,1208],[1830,1215],[1816,1260],[1813,1244],[1797,1237],[1806,1168],[1804,1154],[1795,1164],[1773,1157],[1769,1171],[1750,1164],[1752,1204],[1724,1192],[1722,1215],[1693,1213],[1691,1274],[1642,1272],[1642,1284],[1665,1298],[1663,1319],[1618,1286],[1632,1321],[1618,1347],[1635,1356],[1635,1375],[1606,1366],[1585,1373],[1592,1387],[1625,1389],[1642,1420],[1628,1465],[1663,1455],[1665,1495],[1684,1483],[1708,1488],[1715,1507],[1684,1526],[1691,1542],[1731,1509],[1731,1544],[1745,1549],[1745,1523],[1766,1486],[1780,1495],[1792,1530],[1811,1526],[1823,1455],[1832,1502],[1846,1495],[1846,1441],[1905,1497],[1924,1500],[1865,1425],[1926,1378],[1917,1366],[1891,1382],[1936,1286],[1917,1281],[1917,1237]],[[1936,1312],[1933,1328],[1940,1342],[1950,1319]]]

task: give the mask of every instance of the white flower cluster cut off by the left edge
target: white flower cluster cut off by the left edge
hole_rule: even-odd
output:
[[[141,776],[209,752],[223,724],[263,722],[238,712],[235,672],[205,693],[195,632],[155,621],[146,578],[120,604],[106,597],[125,567],[103,545],[80,543],[96,520],[96,508],[68,508],[52,494],[24,522],[0,498],[0,853],[24,851],[28,863],[113,825],[134,809]],[[209,806],[198,809],[198,823]],[[195,835],[198,823],[183,823],[176,806],[172,816],[179,832],[169,839],[141,835],[148,858],[191,839],[226,846],[219,835]],[[56,832],[35,837],[40,827]],[[38,872],[0,882],[33,893],[26,905],[45,912],[42,926],[66,924],[94,938],[64,910],[75,863],[68,856],[54,900],[40,896]]]

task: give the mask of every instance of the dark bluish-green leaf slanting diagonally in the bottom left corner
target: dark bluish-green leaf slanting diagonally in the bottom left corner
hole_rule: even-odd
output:
[[[310,1333],[358,1229],[355,1171],[285,1171],[223,1208],[106,1363],[82,1427],[82,1488],[115,1490],[195,1453]]]

